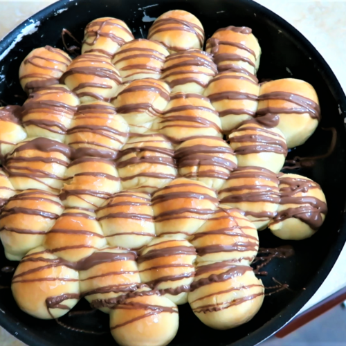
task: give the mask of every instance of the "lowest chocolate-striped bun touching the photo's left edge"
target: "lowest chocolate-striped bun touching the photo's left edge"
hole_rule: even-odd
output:
[[[41,246],[63,210],[62,202],[51,192],[26,190],[12,197],[0,215],[0,238],[8,260],[20,261]]]

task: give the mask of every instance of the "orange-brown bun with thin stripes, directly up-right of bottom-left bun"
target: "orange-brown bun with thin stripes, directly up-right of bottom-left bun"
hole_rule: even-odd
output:
[[[93,211],[66,208],[44,239],[44,247],[66,261],[77,262],[106,245]]]

